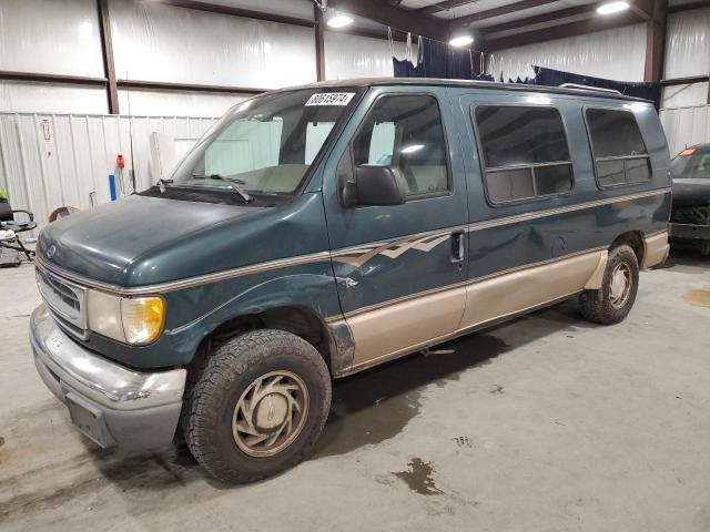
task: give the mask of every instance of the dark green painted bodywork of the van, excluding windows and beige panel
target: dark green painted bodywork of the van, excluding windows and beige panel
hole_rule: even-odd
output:
[[[473,86],[473,88],[471,88]],[[389,207],[341,206],[335,168],[367,109],[384,93],[426,93],[439,104],[449,155],[452,193]],[[570,194],[503,207],[485,198],[469,109],[478,102],[525,104],[546,94],[560,109],[575,171]],[[585,105],[633,106],[650,155],[648,183],[600,191],[582,120]],[[150,286],[230,270],[280,258],[392,241],[407,235],[547,211],[578,203],[669,186],[666,141],[651,105],[539,88],[378,82],[369,88],[347,121],[328,141],[304,193],[274,206],[216,205],[132,196],[62,219],[45,228],[38,252],[54,245],[51,263],[78,275],[125,288]],[[666,228],[670,195],[535,218],[470,232],[467,260],[452,260],[443,242],[428,253],[407,252],[397,259],[377,256],[363,267],[324,259],[312,264],[233,277],[165,294],[165,331],[152,345],[128,347],[92,335],[94,351],[136,368],[187,364],[200,341],[236,316],[282,306],[308,309],[322,320],[430,288],[503,269],[608,246],[628,231],[651,234]],[[333,370],[346,370],[353,341],[346,325],[329,326],[337,351]]]

